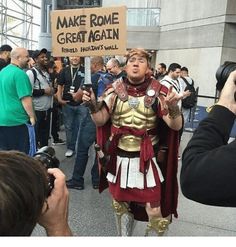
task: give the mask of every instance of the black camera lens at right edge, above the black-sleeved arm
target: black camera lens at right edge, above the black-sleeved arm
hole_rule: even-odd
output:
[[[226,61],[216,71],[216,89],[221,91],[227,81],[229,74],[236,70],[236,63]]]

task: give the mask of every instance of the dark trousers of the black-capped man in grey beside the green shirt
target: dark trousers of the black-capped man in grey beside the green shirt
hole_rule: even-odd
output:
[[[35,133],[38,147],[41,148],[48,146],[51,109],[47,111],[35,111],[35,115],[37,118],[35,124]]]

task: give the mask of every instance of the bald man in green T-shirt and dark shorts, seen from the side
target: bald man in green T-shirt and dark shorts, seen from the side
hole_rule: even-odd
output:
[[[11,63],[0,71],[0,150],[29,154],[28,123],[35,125],[32,87],[24,72],[29,53],[24,48],[11,51]]]

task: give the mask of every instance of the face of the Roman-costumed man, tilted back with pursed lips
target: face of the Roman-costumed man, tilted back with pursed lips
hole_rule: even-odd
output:
[[[145,57],[140,55],[133,55],[126,64],[127,77],[131,83],[139,84],[148,73],[149,67]]]

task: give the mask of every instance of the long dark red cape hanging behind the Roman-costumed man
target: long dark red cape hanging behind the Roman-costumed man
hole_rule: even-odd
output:
[[[97,143],[102,150],[105,150],[105,143],[110,136],[111,122],[109,121],[102,127],[97,129]],[[160,146],[167,146],[168,153],[166,160],[163,164],[159,164],[164,182],[161,184],[161,211],[163,217],[177,214],[177,201],[178,201],[178,182],[177,182],[177,169],[178,169],[178,143],[179,132],[170,129],[163,120],[160,121],[158,127],[158,135],[160,137]],[[100,170],[100,184],[99,192],[101,193],[108,187],[106,174],[102,169]],[[131,211],[136,220],[148,221],[145,207],[136,203],[131,203]]]

